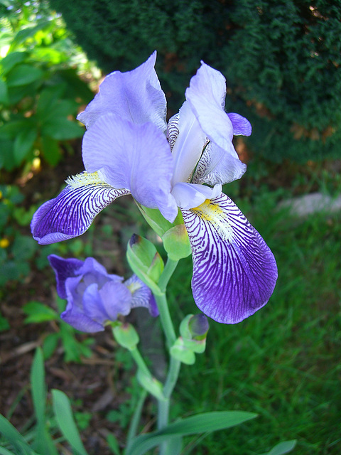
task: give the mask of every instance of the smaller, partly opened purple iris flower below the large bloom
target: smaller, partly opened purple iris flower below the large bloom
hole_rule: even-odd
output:
[[[109,321],[126,316],[136,306],[146,307],[152,316],[158,316],[156,301],[151,290],[133,275],[122,277],[108,274],[93,257],[85,261],[56,255],[48,256],[57,279],[61,299],[67,299],[63,321],[82,332],[99,332]]]

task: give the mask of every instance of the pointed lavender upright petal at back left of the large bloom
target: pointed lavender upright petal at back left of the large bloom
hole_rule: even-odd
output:
[[[151,122],[164,132],[166,97],[154,70],[155,61],[156,52],[135,70],[109,74],[77,119],[89,129],[103,114],[112,112],[136,124]]]

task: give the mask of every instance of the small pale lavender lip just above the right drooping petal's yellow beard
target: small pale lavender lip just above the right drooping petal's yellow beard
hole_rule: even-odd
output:
[[[188,209],[201,205],[206,199],[216,198],[221,192],[221,185],[210,188],[210,186],[195,183],[177,183],[172,190],[172,195],[178,207]]]

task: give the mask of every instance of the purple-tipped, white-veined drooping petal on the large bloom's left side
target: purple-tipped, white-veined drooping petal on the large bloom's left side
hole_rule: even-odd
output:
[[[48,200],[33,215],[33,238],[48,245],[82,235],[101,210],[125,194],[129,194],[127,189],[112,188],[97,173],[69,178],[57,198]]]

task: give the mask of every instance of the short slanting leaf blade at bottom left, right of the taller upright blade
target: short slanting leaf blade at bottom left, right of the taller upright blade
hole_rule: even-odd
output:
[[[60,431],[77,454],[87,455],[72,415],[70,400],[61,390],[52,390],[53,411]]]

